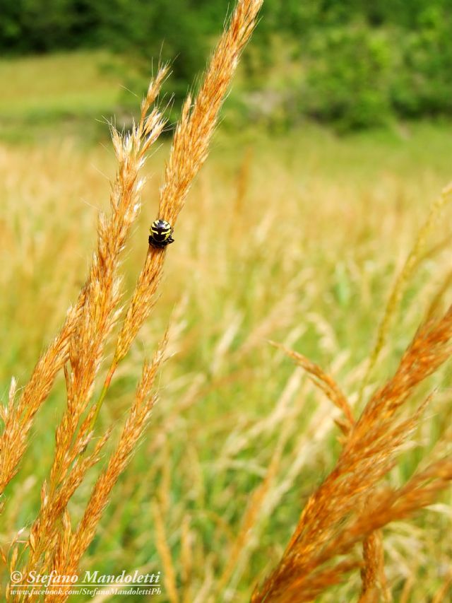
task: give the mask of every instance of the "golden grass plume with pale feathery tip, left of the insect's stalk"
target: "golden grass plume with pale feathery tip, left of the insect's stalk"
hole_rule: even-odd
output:
[[[151,82],[143,100],[140,122],[131,134],[121,138],[113,131],[119,170],[112,186],[111,213],[109,218],[100,216],[97,253],[81,293],[83,304],[78,312],[78,320],[73,324],[69,336],[69,363],[64,365],[66,410],[56,432],[49,481],[42,485],[41,508],[30,528],[28,561],[22,568],[24,575],[32,569],[45,571],[61,565],[63,544],[69,539],[67,505],[88,469],[100,459],[100,450],[109,438],[110,431],[107,430],[95,444],[93,452],[82,456],[92,435],[89,426],[94,407],[88,410],[88,416],[81,426],[79,424],[93,395],[105,341],[117,319],[119,257],[140,207],[139,194],[143,180],[138,177],[139,170],[143,166],[145,153],[165,126],[161,113],[157,109],[149,110],[166,74],[167,68],[163,68]],[[63,532],[60,522],[65,525]],[[61,541],[61,534],[64,534],[64,541]],[[32,595],[24,597],[32,598]]]

